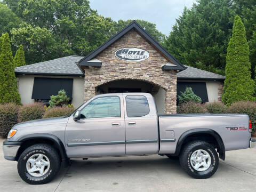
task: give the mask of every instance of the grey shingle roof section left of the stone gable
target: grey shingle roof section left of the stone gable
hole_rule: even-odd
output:
[[[38,74],[38,75],[84,75],[77,67],[76,62],[84,58],[83,56],[68,56],[50,61],[43,61],[31,65],[15,68],[16,74]]]

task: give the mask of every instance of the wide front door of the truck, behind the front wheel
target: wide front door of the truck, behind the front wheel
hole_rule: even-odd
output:
[[[81,119],[69,118],[65,142],[68,157],[125,155],[122,94],[99,97],[81,109]]]

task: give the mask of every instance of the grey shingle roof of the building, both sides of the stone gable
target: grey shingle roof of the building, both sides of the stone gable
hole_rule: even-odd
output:
[[[50,61],[39,62],[27,66],[15,68],[16,74],[37,74],[37,75],[63,75],[83,76],[84,74],[76,65],[76,62],[83,56],[68,56]],[[184,65],[185,66],[185,65]],[[177,73],[178,79],[202,79],[202,80],[223,80],[225,76],[214,74],[205,70],[185,66],[187,69]]]

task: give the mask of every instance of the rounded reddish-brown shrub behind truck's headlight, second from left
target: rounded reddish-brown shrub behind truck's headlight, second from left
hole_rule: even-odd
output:
[[[44,106],[40,102],[26,104],[20,107],[18,120],[19,122],[25,122],[35,119],[41,119],[44,115],[44,112]]]

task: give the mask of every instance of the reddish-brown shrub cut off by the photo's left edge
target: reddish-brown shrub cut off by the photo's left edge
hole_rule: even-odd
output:
[[[14,103],[0,104],[0,136],[7,137],[13,125],[18,123],[19,107]]]

